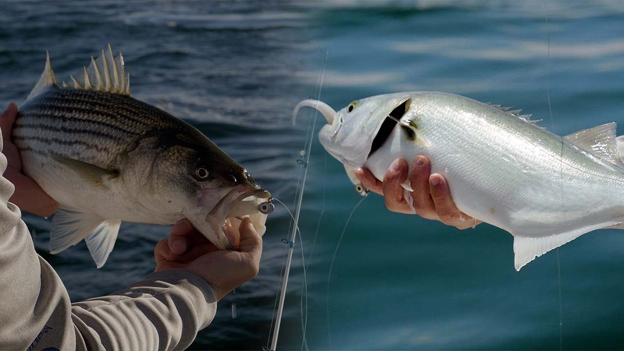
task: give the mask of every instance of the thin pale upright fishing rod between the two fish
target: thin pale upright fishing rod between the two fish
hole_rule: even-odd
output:
[[[325,76],[325,64],[327,62],[327,52],[325,52],[325,56],[323,58],[323,70],[321,71],[321,79],[319,83],[318,94],[321,96],[321,89],[323,87],[323,79]],[[277,347],[277,340],[280,334],[280,324],[281,324],[281,315],[284,310],[284,300],[286,299],[286,287],[288,287],[288,275],[290,273],[290,266],[293,262],[293,250],[295,249],[295,239],[297,234],[297,229],[299,225],[299,215],[301,214],[301,202],[303,201],[303,192],[306,186],[306,177],[308,175],[308,164],[310,163],[310,154],[312,148],[314,127],[316,126],[316,116],[318,115],[318,111],[314,111],[313,114],[313,122],[311,128],[308,127],[308,134],[310,134],[310,141],[306,141],[308,146],[305,152],[305,161],[301,164],[303,167],[303,177],[301,179],[301,187],[299,189],[299,194],[297,197],[297,205],[295,207],[295,224],[293,225],[293,229],[290,235],[289,244],[288,244],[288,258],[286,259],[286,270],[284,272],[284,279],[282,280],[281,285],[281,294],[280,294],[280,303],[277,309],[277,317],[275,320],[275,329],[273,330],[273,340],[271,340],[271,350],[275,351]]]

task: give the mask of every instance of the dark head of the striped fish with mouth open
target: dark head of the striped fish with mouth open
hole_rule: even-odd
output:
[[[219,249],[236,250],[243,218],[250,219],[258,234],[265,233],[266,217],[273,210],[271,195],[245,168],[197,133],[194,139],[186,133],[169,145],[158,143],[150,171],[151,193],[164,196],[169,212],[181,212]]]

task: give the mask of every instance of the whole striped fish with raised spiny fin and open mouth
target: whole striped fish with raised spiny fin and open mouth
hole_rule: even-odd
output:
[[[242,217],[265,232],[270,194],[190,124],[130,97],[122,55],[110,46],[61,86],[48,56],[18,111],[12,140],[23,171],[61,204],[52,254],[85,239],[102,267],[122,221],[186,217],[220,249],[236,248],[240,238],[223,227]]]

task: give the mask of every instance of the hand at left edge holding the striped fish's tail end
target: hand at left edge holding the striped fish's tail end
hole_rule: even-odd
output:
[[[4,177],[15,185],[15,191],[9,201],[16,204],[22,211],[48,217],[56,211],[59,203],[49,197],[34,180],[22,173],[22,160],[19,157],[19,151],[11,141],[11,131],[16,118],[17,105],[11,102],[6,111],[0,115],[0,129],[4,144],[2,154],[7,161]]]

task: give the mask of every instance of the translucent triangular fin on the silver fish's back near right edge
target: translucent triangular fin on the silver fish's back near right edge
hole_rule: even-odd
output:
[[[602,124],[593,128],[583,129],[569,134],[563,139],[571,144],[590,152],[595,156],[605,159],[616,166],[624,167],[618,154],[615,142],[615,122]]]

